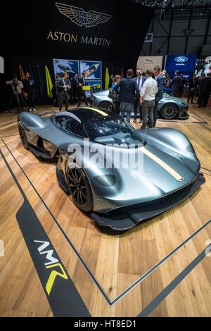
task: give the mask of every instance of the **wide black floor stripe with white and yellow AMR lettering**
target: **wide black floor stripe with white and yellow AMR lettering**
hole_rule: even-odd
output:
[[[0,154],[24,199],[23,205],[16,214],[16,219],[34,267],[37,270],[46,298],[51,306],[53,316],[90,317],[84,301],[77,292],[63,263],[60,261],[56,250],[46,235],[44,228],[41,226],[34,209],[28,201],[27,196],[25,196],[22,187],[20,187],[1,149]],[[44,249],[41,249],[42,245],[44,245]]]

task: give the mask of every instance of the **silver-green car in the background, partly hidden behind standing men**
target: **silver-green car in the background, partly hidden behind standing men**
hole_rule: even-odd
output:
[[[101,107],[108,109],[108,111],[113,111],[113,101],[108,98],[108,93],[109,89],[98,93],[91,93],[91,107]],[[188,107],[186,101],[164,94],[158,103],[158,115],[165,120],[173,120],[174,118],[186,120],[189,118]]]

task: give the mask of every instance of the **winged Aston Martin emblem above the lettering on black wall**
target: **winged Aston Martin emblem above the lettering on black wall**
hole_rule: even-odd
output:
[[[95,27],[98,24],[106,23],[112,15],[98,13],[96,11],[84,11],[83,8],[73,7],[66,4],[56,2],[56,6],[60,13],[72,20],[72,23],[79,25],[79,27]]]

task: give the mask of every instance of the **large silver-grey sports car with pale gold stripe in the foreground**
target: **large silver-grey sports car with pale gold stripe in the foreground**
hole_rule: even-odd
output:
[[[23,112],[18,130],[23,146],[35,155],[58,156],[58,183],[76,206],[115,230],[167,211],[205,182],[184,134],[135,130],[102,108]]]

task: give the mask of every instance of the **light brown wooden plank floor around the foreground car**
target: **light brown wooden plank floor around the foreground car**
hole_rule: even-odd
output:
[[[50,109],[55,110],[42,106],[38,112]],[[191,105],[190,114],[184,122],[158,120],[158,127],[184,132],[191,139],[201,166],[211,169],[211,109]],[[207,124],[193,123],[203,122],[202,118]],[[211,173],[202,169],[206,173],[205,185],[179,206],[128,232],[115,233],[99,228],[75,207],[57,183],[56,163],[41,161],[23,148],[14,111],[0,113],[0,120],[1,152],[91,316],[138,316],[211,239],[211,225],[207,225],[117,303],[109,305],[32,185],[112,302],[211,219]],[[4,257],[0,257],[0,316],[53,316],[15,217],[23,196],[3,158],[0,170],[0,239],[5,245]],[[211,316],[210,258],[203,258],[149,316]]]

